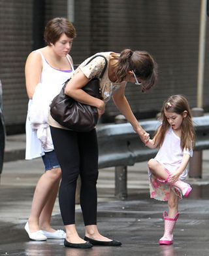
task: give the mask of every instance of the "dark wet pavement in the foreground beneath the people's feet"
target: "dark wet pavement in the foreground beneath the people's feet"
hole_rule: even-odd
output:
[[[72,249],[64,247],[62,240],[29,241],[24,224],[4,223],[2,226],[0,223],[0,255],[208,255],[207,200],[185,199],[180,203],[173,246],[158,245],[163,234],[162,210],[165,210],[165,204],[150,199],[99,203],[99,230],[106,236],[120,240],[120,247]],[[59,215],[52,217],[52,223],[56,228],[62,227]],[[76,213],[76,223],[78,233],[84,236],[80,210]]]

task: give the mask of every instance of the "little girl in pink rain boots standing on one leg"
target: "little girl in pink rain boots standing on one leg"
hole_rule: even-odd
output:
[[[161,110],[162,124],[146,144],[159,147],[154,159],[148,161],[150,197],[168,201],[169,214],[163,212],[165,232],[159,244],[172,244],[172,230],[178,219],[178,199],[191,191],[184,180],[187,164],[195,145],[194,128],[187,100],[181,95],[170,96]]]

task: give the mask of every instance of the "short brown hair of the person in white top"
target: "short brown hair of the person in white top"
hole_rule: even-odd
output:
[[[62,33],[65,33],[65,35],[70,38],[76,37],[76,30],[67,18],[54,18],[46,24],[44,41],[48,46],[51,44],[54,45],[59,40]]]

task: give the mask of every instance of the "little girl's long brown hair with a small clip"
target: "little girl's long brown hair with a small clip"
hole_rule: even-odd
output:
[[[189,104],[187,100],[182,95],[173,95],[170,96],[163,103],[163,107],[161,109],[161,120],[162,124],[155,133],[155,141],[159,140],[158,147],[161,147],[163,144],[165,134],[169,129],[169,122],[167,117],[165,116],[165,111],[174,112],[179,115],[183,115],[184,111],[187,111],[187,116],[182,120],[181,124],[181,149],[184,148],[191,150],[191,148],[195,147],[195,131],[193,127],[193,122],[191,118],[191,111],[189,109]],[[191,145],[192,141],[192,145]]]

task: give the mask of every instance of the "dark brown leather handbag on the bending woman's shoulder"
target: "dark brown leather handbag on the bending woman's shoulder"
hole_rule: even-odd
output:
[[[99,82],[105,73],[107,60],[103,55],[93,56],[91,60],[97,58],[98,56],[101,56],[105,59],[105,67],[99,79],[91,79],[91,81],[89,81],[82,88],[82,90],[95,98],[101,99],[102,97]],[[89,62],[91,62],[91,60],[89,60]],[[88,65],[89,62],[86,65]],[[66,128],[76,132],[89,132],[95,128],[95,125],[98,121],[97,107],[80,103],[67,96],[65,94],[65,87],[69,80],[70,79],[65,82],[61,92],[54,98],[54,100],[52,100],[50,105],[51,116],[54,120]]]

